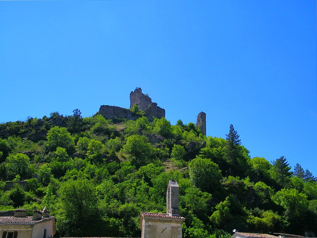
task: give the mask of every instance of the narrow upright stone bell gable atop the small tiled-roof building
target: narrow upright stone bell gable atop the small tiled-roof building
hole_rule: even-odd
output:
[[[166,213],[169,216],[179,217],[179,186],[178,183],[172,179],[168,181],[166,191]]]

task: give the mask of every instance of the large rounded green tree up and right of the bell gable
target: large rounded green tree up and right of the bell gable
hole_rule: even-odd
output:
[[[221,172],[210,159],[196,157],[189,162],[189,176],[192,183],[204,192],[212,193],[220,187]]]

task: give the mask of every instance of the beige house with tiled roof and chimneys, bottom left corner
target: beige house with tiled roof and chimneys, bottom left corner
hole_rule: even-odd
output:
[[[55,234],[55,217],[45,208],[33,210],[33,216],[27,216],[26,209],[12,213],[0,217],[0,238],[51,238]]]

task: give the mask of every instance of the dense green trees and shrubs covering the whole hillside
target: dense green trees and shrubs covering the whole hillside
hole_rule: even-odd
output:
[[[317,233],[317,182],[286,158],[250,158],[233,125],[226,139],[194,123],[98,113],[0,124],[0,209],[43,209],[56,236],[140,237],[140,214],[166,212],[169,179],[180,186],[184,238],[246,232]],[[24,181],[5,189],[5,181]]]

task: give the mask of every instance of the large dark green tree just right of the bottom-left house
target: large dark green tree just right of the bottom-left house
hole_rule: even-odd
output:
[[[92,236],[96,221],[97,197],[90,180],[68,180],[58,190],[57,228],[64,236]],[[94,217],[94,219],[92,219]]]

